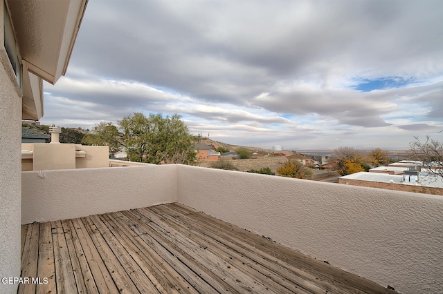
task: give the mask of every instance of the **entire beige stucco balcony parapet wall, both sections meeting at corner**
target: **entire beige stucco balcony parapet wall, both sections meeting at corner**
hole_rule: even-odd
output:
[[[22,173],[22,222],[180,202],[400,293],[443,288],[443,197],[195,166]]]

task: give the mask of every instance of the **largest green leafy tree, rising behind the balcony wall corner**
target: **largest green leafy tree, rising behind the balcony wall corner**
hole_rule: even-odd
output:
[[[129,159],[151,164],[192,164],[194,142],[180,118],[177,114],[162,117],[160,113],[145,117],[138,112],[118,121]]]

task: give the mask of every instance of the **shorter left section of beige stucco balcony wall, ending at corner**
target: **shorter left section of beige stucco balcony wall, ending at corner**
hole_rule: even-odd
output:
[[[176,202],[176,170],[168,165],[23,172],[21,223]]]

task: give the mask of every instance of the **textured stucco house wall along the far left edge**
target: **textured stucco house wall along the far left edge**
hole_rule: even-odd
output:
[[[0,4],[3,24],[3,3]],[[21,94],[3,46],[0,26],[0,278],[20,276]],[[17,285],[2,284],[0,293]]]

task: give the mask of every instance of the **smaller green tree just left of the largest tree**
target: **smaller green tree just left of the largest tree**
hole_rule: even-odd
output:
[[[110,152],[114,152],[120,146],[118,141],[118,129],[110,122],[100,122],[91,133],[84,135],[84,145],[108,146]]]

